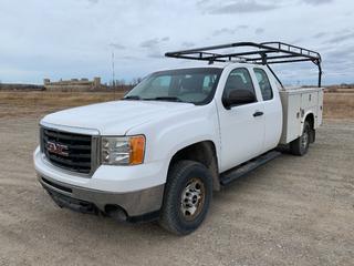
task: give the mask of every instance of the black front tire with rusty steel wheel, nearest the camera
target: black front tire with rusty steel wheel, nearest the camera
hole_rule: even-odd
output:
[[[212,197],[212,176],[201,163],[179,161],[167,177],[159,224],[176,235],[187,235],[207,216]]]

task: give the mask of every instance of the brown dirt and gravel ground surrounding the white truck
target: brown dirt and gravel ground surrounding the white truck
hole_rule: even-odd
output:
[[[32,152],[39,119],[61,102],[3,99],[1,266],[354,264],[353,116],[326,119],[305,156],[283,154],[216,193],[202,226],[176,237],[156,223],[56,207],[37,182]]]

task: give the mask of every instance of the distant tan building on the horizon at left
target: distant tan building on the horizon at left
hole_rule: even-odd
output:
[[[101,78],[94,78],[92,81],[88,79],[72,79],[72,80],[60,80],[51,81],[50,79],[44,79],[44,88],[48,91],[100,91],[104,90],[104,85],[101,84]]]

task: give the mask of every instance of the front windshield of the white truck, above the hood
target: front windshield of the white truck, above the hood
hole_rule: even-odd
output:
[[[198,68],[156,72],[144,79],[124,99],[207,104],[214,98],[221,71]]]

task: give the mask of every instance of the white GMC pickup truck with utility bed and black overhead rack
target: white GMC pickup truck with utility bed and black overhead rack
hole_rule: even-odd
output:
[[[321,83],[319,53],[247,42],[166,55],[209,64],[158,71],[119,101],[41,120],[34,166],[60,207],[188,234],[214,191],[274,158],[280,144],[304,155],[314,142],[323,90],[285,90],[269,65],[311,61]]]

